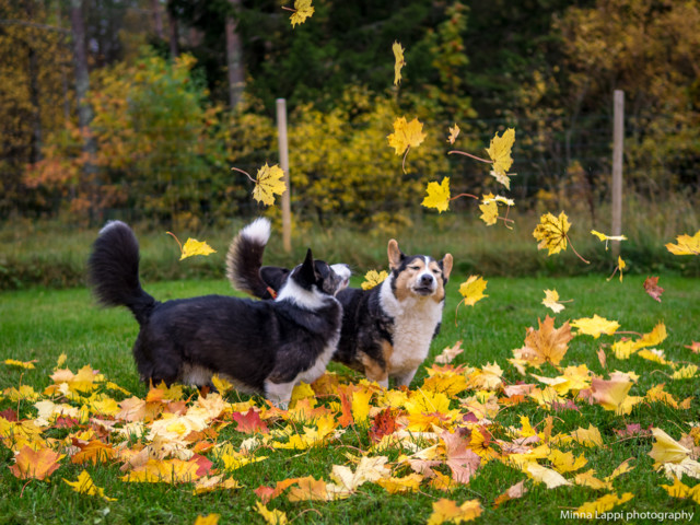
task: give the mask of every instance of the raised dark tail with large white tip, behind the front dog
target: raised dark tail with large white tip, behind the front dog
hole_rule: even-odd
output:
[[[260,277],[262,254],[270,238],[270,221],[259,218],[234,237],[226,253],[226,277],[231,285],[254,298],[270,299],[272,293]]]

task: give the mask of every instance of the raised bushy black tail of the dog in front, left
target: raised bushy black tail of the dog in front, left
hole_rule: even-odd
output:
[[[100,304],[128,307],[140,325],[148,320],[156,302],[141,288],[139,242],[127,224],[109,221],[100,231],[88,270]]]

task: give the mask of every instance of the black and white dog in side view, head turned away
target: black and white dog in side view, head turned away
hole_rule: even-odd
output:
[[[131,229],[108,222],[89,260],[98,302],[127,306],[139,322],[133,346],[141,378],[206,386],[220,374],[245,393],[284,407],[294,385],[320,377],[340,337],[346,265],[314,260],[311,249],[275,301],[222,295],[159,302],[141,288]]]

